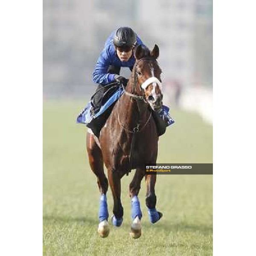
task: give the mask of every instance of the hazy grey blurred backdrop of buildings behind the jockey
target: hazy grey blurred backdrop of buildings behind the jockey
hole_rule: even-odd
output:
[[[173,84],[212,88],[212,0],[44,0],[43,18],[46,98],[88,98],[99,53],[119,26],[160,47],[170,94]]]

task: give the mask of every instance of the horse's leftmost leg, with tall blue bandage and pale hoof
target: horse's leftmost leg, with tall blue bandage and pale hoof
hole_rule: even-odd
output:
[[[108,191],[108,179],[104,173],[102,151],[97,145],[92,134],[87,133],[86,147],[88,159],[93,173],[97,176],[97,183],[101,193],[99,203],[99,227],[98,232],[102,237],[107,237],[109,234],[108,226],[108,204],[106,193]]]

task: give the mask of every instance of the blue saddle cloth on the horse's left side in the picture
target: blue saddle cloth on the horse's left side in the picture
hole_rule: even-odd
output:
[[[102,129],[102,126],[105,124],[108,116],[110,115],[115,102],[121,97],[124,90],[123,87],[120,86],[115,90],[115,92],[106,99],[105,103],[102,105],[100,110],[93,114],[91,113],[91,109],[93,108],[91,102],[89,102],[83,111],[79,113],[79,116],[76,119],[77,123],[85,124],[87,127],[91,128],[93,133],[99,137],[99,132]]]

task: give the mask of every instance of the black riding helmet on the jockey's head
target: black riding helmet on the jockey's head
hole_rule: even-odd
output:
[[[134,47],[137,43],[136,34],[129,27],[120,27],[116,29],[113,38],[113,44],[116,47]]]

